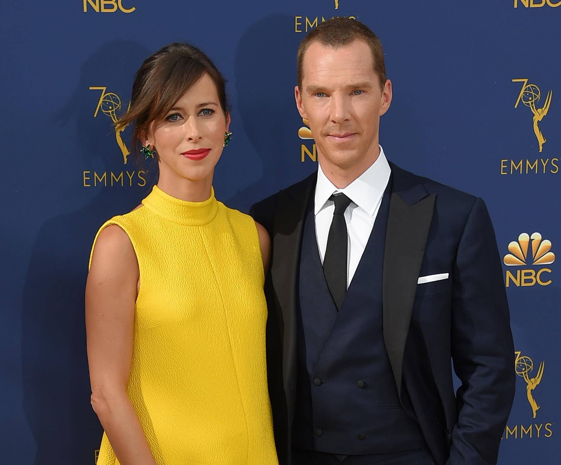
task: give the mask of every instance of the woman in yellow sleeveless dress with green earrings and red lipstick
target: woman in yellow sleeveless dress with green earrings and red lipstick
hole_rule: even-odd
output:
[[[136,73],[130,109],[159,180],[95,238],[86,284],[98,465],[276,465],[266,386],[269,237],[218,202],[230,116],[224,79],[171,44]]]

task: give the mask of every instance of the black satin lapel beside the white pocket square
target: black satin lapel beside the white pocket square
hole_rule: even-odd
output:
[[[390,198],[383,271],[384,343],[401,397],[403,351],[436,194],[413,205]]]

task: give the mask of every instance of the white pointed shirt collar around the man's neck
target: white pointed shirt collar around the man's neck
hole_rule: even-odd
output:
[[[317,215],[325,206],[327,201],[335,192],[343,192],[354,204],[371,216],[374,216],[376,206],[380,197],[384,194],[388,185],[389,176],[392,170],[388,160],[385,158],[384,149],[380,147],[380,155],[370,167],[362,173],[355,181],[344,189],[338,189],[325,176],[318,163],[318,181],[314,197],[314,214]]]

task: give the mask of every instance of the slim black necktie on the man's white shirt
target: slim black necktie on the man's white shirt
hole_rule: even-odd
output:
[[[337,311],[343,305],[347,293],[347,223],[344,213],[351,199],[344,194],[333,194],[329,200],[335,202],[333,220],[327,237],[327,248],[323,259],[323,274],[333,297]]]

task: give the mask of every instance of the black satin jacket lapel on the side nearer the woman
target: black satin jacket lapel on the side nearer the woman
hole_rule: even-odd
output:
[[[271,275],[283,343],[283,381],[289,414],[293,413],[296,387],[296,299],[298,263],[302,245],[304,214],[315,181],[308,183],[292,198],[282,193],[277,204],[273,228]],[[292,407],[292,408],[291,408]]]

